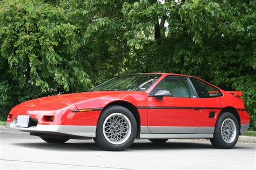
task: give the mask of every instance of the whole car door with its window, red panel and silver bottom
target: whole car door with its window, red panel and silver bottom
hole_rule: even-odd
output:
[[[163,99],[154,97],[159,90],[170,91]],[[149,133],[197,133],[203,101],[198,98],[188,77],[167,76],[150,93]]]

